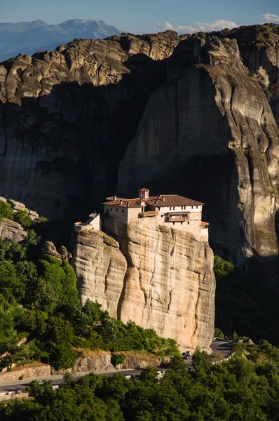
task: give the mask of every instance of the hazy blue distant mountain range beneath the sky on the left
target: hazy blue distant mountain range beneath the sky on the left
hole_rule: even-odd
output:
[[[40,50],[55,50],[75,38],[103,39],[120,33],[102,20],[73,19],[59,25],[48,25],[43,20],[0,23],[0,61],[20,53],[32,55]]]

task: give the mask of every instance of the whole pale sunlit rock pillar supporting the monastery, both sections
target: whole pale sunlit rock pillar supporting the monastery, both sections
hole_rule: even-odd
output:
[[[75,234],[73,265],[81,299],[181,347],[208,347],[214,334],[215,276],[208,245],[154,218],[130,222],[124,255],[102,232]]]

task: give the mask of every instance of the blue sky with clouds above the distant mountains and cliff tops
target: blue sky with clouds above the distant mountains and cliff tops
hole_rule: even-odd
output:
[[[279,23],[279,0],[2,0],[0,22],[104,20],[123,32],[180,34]]]

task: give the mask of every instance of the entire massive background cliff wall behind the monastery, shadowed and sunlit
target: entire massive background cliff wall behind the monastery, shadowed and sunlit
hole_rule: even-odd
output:
[[[278,25],[19,55],[0,65],[0,114],[1,195],[72,220],[143,183],[189,196],[215,246],[277,280]]]

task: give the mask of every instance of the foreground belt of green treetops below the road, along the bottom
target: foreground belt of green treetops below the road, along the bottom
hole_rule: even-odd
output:
[[[91,373],[53,390],[34,381],[32,398],[0,403],[1,421],[267,421],[279,420],[279,349],[266,341],[236,344],[229,361],[193,356],[193,370],[175,357],[163,379]]]

